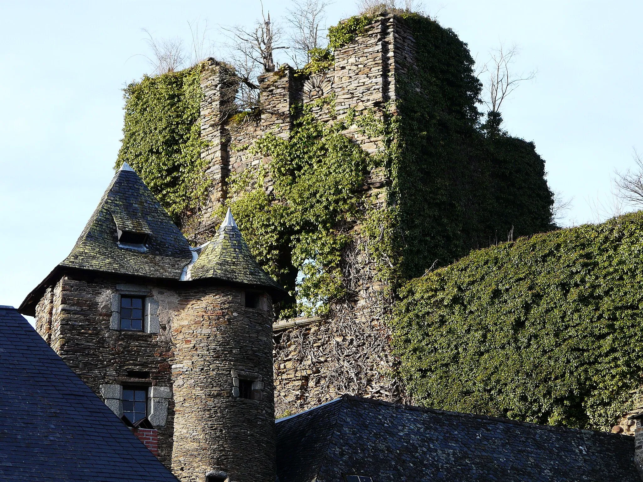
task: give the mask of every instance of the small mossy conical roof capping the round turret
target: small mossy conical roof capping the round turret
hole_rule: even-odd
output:
[[[218,278],[284,292],[262,269],[241,236],[230,208],[217,234],[205,247],[190,269],[190,278]]]

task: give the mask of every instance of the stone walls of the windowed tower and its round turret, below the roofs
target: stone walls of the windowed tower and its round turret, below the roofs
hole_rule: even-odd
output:
[[[181,481],[204,482],[215,471],[272,482],[271,299],[264,294],[259,308],[246,308],[242,290],[188,284],[62,276],[37,305],[36,329],[115,413],[113,387],[150,387],[150,402],[167,415],[151,411],[159,426],[133,431]],[[158,333],[114,329],[114,294],[143,292],[155,301]],[[239,377],[254,381],[253,399],[235,394]]]

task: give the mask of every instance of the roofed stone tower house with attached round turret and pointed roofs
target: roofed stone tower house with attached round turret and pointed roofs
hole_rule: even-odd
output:
[[[190,247],[124,164],[20,310],[181,481],[273,482],[271,335],[283,296],[230,213]]]

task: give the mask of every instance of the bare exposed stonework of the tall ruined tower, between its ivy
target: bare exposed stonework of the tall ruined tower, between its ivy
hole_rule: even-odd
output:
[[[344,119],[349,109],[356,114],[383,118],[396,113],[395,76],[406,75],[413,64],[414,41],[410,32],[394,15],[382,15],[354,42],[338,49],[334,67],[310,76],[296,76],[284,66],[275,73],[260,77],[260,118],[248,115],[238,121],[226,120],[228,107],[213,105],[220,99],[217,78],[221,67],[216,62],[204,64],[201,86],[202,132],[212,143],[206,156],[210,160],[213,192],[202,206],[192,226],[195,244],[212,237],[221,219],[220,206],[227,199],[226,176],[239,175],[271,161],[251,150],[253,143],[268,132],[287,136],[292,127],[291,109],[308,105],[317,120],[334,122]],[[322,99],[332,102],[321,103]],[[216,109],[220,109],[217,114]],[[212,119],[221,119],[213,127]],[[205,127],[207,126],[207,127]],[[383,150],[383,138],[369,137],[356,125],[344,134],[354,139],[369,154]],[[215,156],[212,153],[216,153]],[[365,199],[375,208],[386,206],[385,170],[370,172],[363,186]],[[218,186],[218,187],[217,187]],[[264,179],[267,193],[273,190],[271,179]],[[361,226],[354,226],[354,244],[347,249],[343,271],[349,284],[349,299],[331,307],[325,320],[310,326],[293,326],[275,332],[275,404],[276,414],[296,413],[327,402],[342,393],[396,401],[401,399],[397,382],[390,377],[393,358],[384,323],[388,305],[381,286],[375,280],[375,267],[364,249]]]

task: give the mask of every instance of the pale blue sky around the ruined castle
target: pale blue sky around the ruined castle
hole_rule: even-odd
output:
[[[288,1],[264,0],[273,19]],[[505,129],[534,141],[554,190],[574,197],[570,223],[609,204],[610,176],[643,150],[643,3],[425,1],[478,60],[521,46],[518,71],[538,69],[503,109]],[[183,37],[188,21],[251,22],[258,0],[0,0],[0,305],[19,305],[73,246],[113,176],[122,91],[148,72],[146,28]],[[329,8],[333,24],[356,12]],[[216,51],[213,53],[217,53]],[[595,210],[594,210],[595,211]]]

